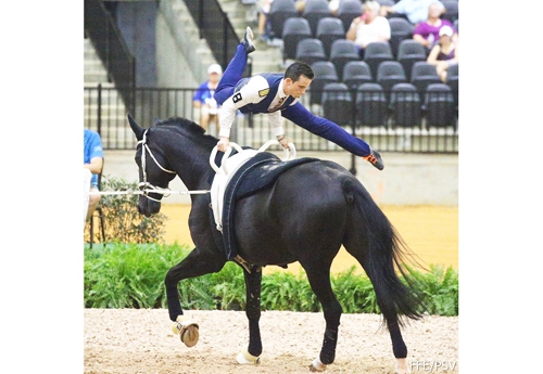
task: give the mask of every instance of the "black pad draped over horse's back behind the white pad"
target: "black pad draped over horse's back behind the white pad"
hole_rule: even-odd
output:
[[[273,153],[260,152],[240,167],[225,190],[223,205],[223,241],[228,260],[238,254],[238,241],[233,229],[236,202],[270,188],[282,172],[316,160],[318,158],[302,157],[282,162]]]

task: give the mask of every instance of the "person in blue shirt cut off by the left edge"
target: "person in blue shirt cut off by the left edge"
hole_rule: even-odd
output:
[[[98,175],[102,172],[103,150],[100,134],[92,130],[84,129],[83,133],[83,168],[84,168],[84,218],[87,222],[94,212],[100,195],[90,195],[88,192],[98,192]]]

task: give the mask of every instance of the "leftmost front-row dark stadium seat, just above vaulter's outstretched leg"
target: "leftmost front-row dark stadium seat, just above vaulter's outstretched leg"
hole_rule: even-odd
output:
[[[345,83],[326,83],[321,105],[325,118],[340,126],[353,122],[353,98]]]

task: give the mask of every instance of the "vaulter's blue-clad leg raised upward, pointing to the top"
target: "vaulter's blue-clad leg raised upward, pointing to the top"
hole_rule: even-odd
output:
[[[247,56],[254,50],[253,31],[250,27],[248,27],[243,39],[236,49],[236,54],[226,67],[225,73],[217,85],[215,94],[213,95],[219,105],[223,105],[223,103],[233,94],[236,85],[243,77],[243,72],[247,66]]]

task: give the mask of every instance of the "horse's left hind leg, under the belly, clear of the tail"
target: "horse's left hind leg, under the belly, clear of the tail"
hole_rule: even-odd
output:
[[[312,372],[323,372],[326,370],[326,365],[332,363],[336,359],[338,327],[343,310],[330,284],[331,261],[329,263],[324,263],[324,261],[315,263],[314,258],[312,259],[312,263],[306,263],[303,260],[300,260],[300,263],[307,274],[311,288],[320,301],[325,314],[326,330],[323,338],[323,348],[320,349],[319,358],[315,359],[310,365]]]

